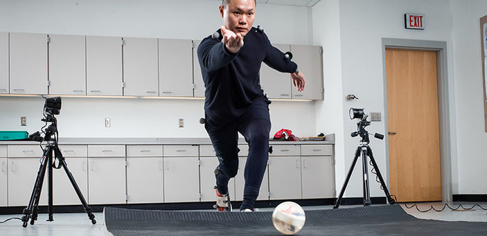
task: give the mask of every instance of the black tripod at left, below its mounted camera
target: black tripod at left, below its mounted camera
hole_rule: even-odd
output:
[[[37,172],[37,177],[35,178],[34,189],[32,190],[32,195],[30,195],[30,200],[28,203],[27,208],[22,211],[24,216],[22,217],[22,226],[27,227],[27,222],[30,218],[30,224],[34,224],[37,220],[37,215],[39,213],[39,198],[41,195],[42,190],[42,183],[44,182],[44,176],[46,175],[46,170],[48,169],[48,222],[52,222],[53,219],[53,168],[60,169],[61,167],[64,168],[66,171],[69,181],[73,185],[76,194],[80,198],[81,204],[83,208],[85,208],[85,212],[88,214],[89,219],[91,219],[91,223],[96,224],[95,215],[91,212],[91,208],[88,206],[87,202],[85,201],[85,197],[83,197],[80,188],[78,188],[78,184],[74,180],[73,175],[68,169],[66,161],[64,157],[62,157],[62,153],[57,146],[57,120],[54,115],[50,113],[45,113],[45,119],[42,121],[51,122],[52,124],[44,130],[45,136],[44,138],[41,137],[40,133],[37,131],[33,135],[30,135],[30,139],[34,141],[46,141],[47,145],[44,148],[44,153],[42,154],[41,159],[41,166],[39,167],[39,171]],[[45,127],[45,126],[44,126]],[[53,160],[53,152],[54,152],[54,160]],[[53,161],[57,159],[59,164],[55,166]]]

